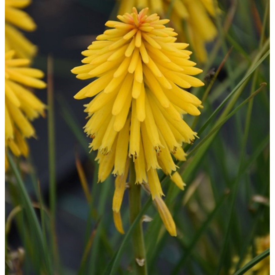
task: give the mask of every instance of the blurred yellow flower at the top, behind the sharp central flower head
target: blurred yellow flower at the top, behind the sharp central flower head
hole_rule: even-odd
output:
[[[215,0],[121,0],[119,14],[130,12],[132,7],[138,9],[149,7],[150,13],[158,13],[165,18],[171,9],[171,25],[179,34],[181,41],[188,41],[196,57],[205,62],[207,52],[205,44],[213,41],[217,29],[212,22],[215,17]]]

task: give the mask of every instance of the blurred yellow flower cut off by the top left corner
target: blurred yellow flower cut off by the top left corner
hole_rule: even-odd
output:
[[[15,50],[16,57],[33,57],[37,51],[32,44],[17,28],[23,31],[34,31],[36,24],[24,12],[31,0],[5,0],[5,52]]]

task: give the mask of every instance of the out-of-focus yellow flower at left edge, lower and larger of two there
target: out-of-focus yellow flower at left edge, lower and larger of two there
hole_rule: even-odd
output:
[[[40,80],[43,72],[28,68],[29,59],[13,58],[14,51],[5,53],[5,151],[9,148],[15,156],[26,156],[25,138],[35,136],[30,120],[44,116],[45,105],[31,92],[31,88],[43,89]],[[5,156],[5,170],[8,161]]]

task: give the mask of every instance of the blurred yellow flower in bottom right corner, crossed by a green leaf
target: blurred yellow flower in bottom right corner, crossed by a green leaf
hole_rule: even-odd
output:
[[[255,253],[256,253],[256,255],[260,255],[262,252],[264,252],[268,248],[270,248],[270,234],[263,236],[263,237],[257,237],[255,239]],[[250,248],[248,254],[242,261],[240,267],[246,265],[252,259],[253,259],[253,256],[252,256],[252,251]],[[239,262],[239,257],[235,256],[233,258],[233,268],[231,268],[229,271],[230,274],[235,273],[235,266],[238,262]],[[253,275],[253,274],[269,275],[270,274],[270,256],[267,256],[265,259],[258,262],[255,266],[253,266],[245,274],[247,274],[247,275]]]

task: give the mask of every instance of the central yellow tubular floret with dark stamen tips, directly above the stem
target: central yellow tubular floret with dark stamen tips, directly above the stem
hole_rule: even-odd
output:
[[[140,121],[137,118],[136,101],[132,100],[129,156],[133,156],[133,158],[136,158],[139,156],[139,145],[140,145]]]

